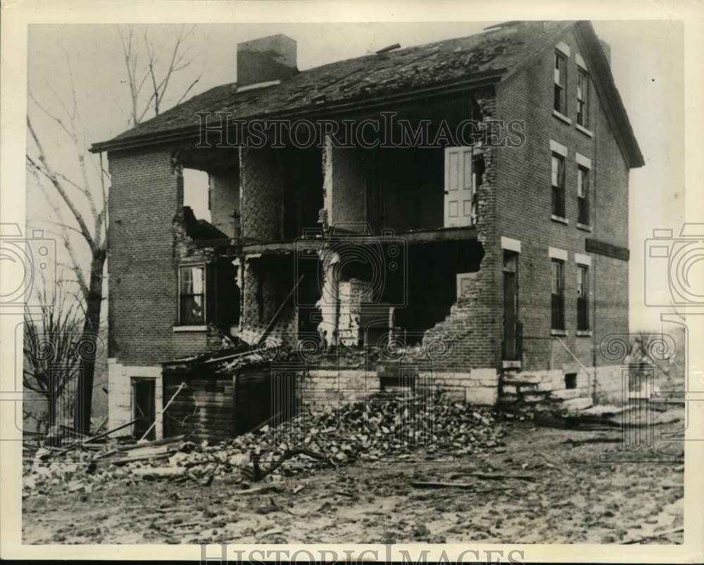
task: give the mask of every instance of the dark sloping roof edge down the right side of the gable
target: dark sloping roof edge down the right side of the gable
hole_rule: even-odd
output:
[[[579,21],[575,29],[579,30],[584,36],[584,46],[592,63],[590,65],[591,76],[596,79],[594,80],[595,87],[601,89],[600,98],[604,101],[603,108],[608,116],[608,121],[612,125],[616,141],[626,159],[627,165],[630,169],[642,167],[646,162],[643,159],[643,153],[641,153],[633,127],[631,127],[631,122],[628,119],[628,113],[616,87],[611,72],[611,65],[599,43],[599,38],[589,21]]]

